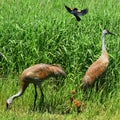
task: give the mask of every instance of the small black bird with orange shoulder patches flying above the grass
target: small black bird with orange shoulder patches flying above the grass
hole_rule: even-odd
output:
[[[86,9],[83,9],[83,10],[78,10],[77,8],[69,8],[69,7],[67,7],[66,5],[65,5],[65,8],[66,8],[66,10],[67,10],[69,13],[73,14],[73,15],[76,17],[76,20],[77,20],[77,21],[80,21],[80,20],[81,20],[79,16],[84,16],[85,14],[88,13],[88,9],[87,9],[87,8],[86,8]]]

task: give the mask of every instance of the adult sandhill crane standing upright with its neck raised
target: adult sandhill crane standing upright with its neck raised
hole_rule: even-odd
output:
[[[102,32],[102,53],[101,56],[88,68],[86,71],[82,85],[83,89],[85,90],[88,86],[93,85],[95,79],[102,75],[106,68],[108,67],[109,63],[109,56],[105,46],[105,36],[107,34],[114,35],[113,33],[109,32],[108,30],[103,30]]]

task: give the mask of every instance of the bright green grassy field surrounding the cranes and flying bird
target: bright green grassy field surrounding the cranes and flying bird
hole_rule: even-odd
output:
[[[64,4],[89,13],[77,22]],[[95,88],[80,89],[87,68],[101,54],[101,33],[106,37],[109,67]],[[43,83],[45,102],[32,111],[34,88],[6,111],[6,99],[19,90],[21,72],[37,63],[60,64],[67,77]],[[70,91],[82,104],[81,113],[70,103]],[[39,91],[39,90],[38,90]],[[40,93],[40,92],[39,92]],[[0,119],[1,120],[119,120],[120,119],[120,1],[119,0],[1,0],[0,2]]]

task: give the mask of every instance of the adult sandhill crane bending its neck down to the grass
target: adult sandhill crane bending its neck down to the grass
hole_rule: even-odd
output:
[[[59,65],[36,64],[34,66],[25,69],[21,74],[20,90],[17,94],[7,99],[6,108],[9,107],[9,105],[12,103],[12,101],[15,98],[21,96],[25,92],[26,88],[30,83],[33,83],[35,87],[35,99],[34,99],[34,108],[35,108],[36,99],[37,99],[36,85],[40,88],[42,102],[44,102],[44,94],[41,87],[42,82],[49,77],[57,78],[58,76],[63,76],[63,77],[66,76],[66,73]]]

